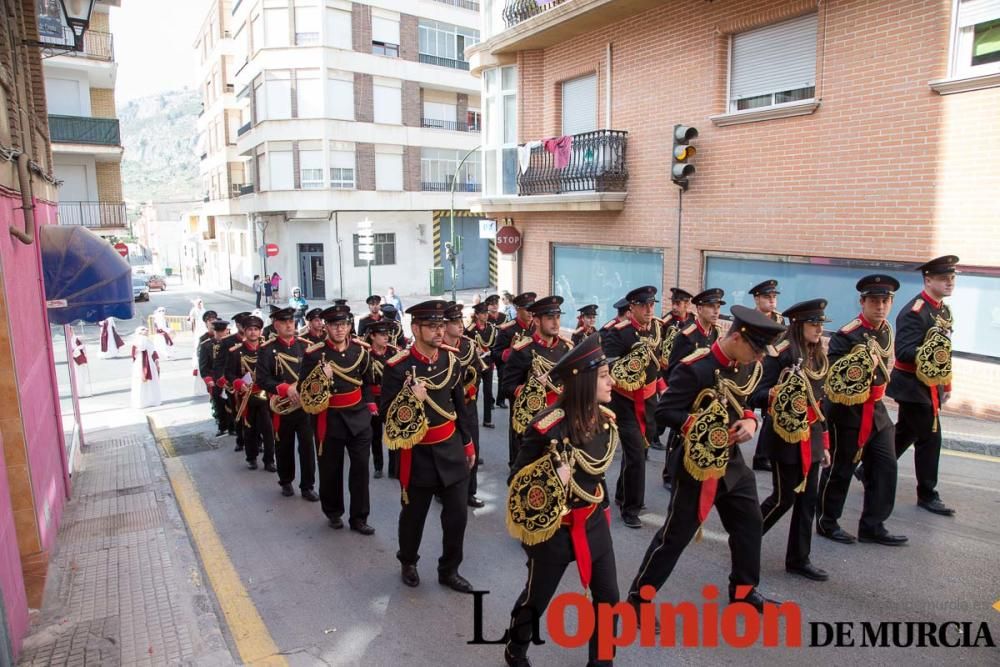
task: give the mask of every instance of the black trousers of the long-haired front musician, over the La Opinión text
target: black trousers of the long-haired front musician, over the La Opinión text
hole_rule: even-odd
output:
[[[517,596],[514,609],[510,612],[510,639],[507,642],[507,649],[513,655],[518,657],[527,655],[535,619],[540,620],[542,614],[545,613],[545,609],[549,606],[549,602],[552,601],[552,597],[559,587],[563,573],[572,562],[528,559],[528,581],[521,590],[521,594]],[[575,571],[570,576],[576,576]],[[594,600],[594,618],[597,618],[598,604],[618,603],[620,595],[614,549],[608,549],[607,553],[592,563],[590,592]],[[611,664],[610,661],[602,662],[597,659],[596,628],[590,638],[588,657],[588,665]]]

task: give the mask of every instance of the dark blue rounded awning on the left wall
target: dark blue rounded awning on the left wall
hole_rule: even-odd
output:
[[[78,225],[42,225],[41,246],[50,323],[132,319],[132,267],[111,244]]]

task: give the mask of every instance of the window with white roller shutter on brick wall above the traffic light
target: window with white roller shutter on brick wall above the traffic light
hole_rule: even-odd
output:
[[[730,46],[730,113],[815,96],[816,14],[733,35]]]

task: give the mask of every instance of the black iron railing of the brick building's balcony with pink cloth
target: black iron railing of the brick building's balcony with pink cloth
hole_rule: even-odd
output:
[[[625,147],[628,132],[595,130],[573,135],[573,144],[560,156],[545,146],[531,150],[528,169],[517,177],[520,195],[561,194],[564,192],[625,192],[628,166]]]

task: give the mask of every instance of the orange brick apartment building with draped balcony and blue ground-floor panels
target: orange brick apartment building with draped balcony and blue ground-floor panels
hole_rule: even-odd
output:
[[[1000,416],[1000,2],[485,0],[482,27],[476,208],[523,238],[501,287],[608,313],[641,284],[752,305],[777,278],[779,308],[846,322],[858,277],[902,305],[956,254],[948,408]],[[683,193],[675,124],[699,133]]]

